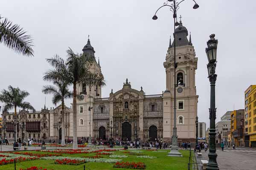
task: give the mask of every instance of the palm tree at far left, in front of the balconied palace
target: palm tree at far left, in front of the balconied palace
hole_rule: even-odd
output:
[[[0,101],[6,104],[4,107],[4,111],[9,111],[14,108],[15,122],[17,119],[17,107],[35,111],[35,109],[29,102],[23,101],[27,96],[29,96],[29,92],[22,91],[18,87],[13,88],[11,85],[8,86],[8,90],[4,89],[0,94]],[[16,141],[16,134],[14,134],[14,141]]]

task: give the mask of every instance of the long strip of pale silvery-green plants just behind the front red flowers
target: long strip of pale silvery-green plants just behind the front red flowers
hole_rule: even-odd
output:
[[[85,162],[104,162],[104,163],[116,163],[119,161],[122,161],[122,159],[105,159],[105,158],[99,158],[99,159],[93,159],[93,158],[80,158],[80,157],[57,157],[57,156],[49,156],[49,157],[42,157],[40,159],[45,159],[45,160],[55,160],[55,159],[75,159],[75,160],[81,160]]]

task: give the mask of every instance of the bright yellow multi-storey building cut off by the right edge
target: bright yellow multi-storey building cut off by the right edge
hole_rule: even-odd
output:
[[[244,92],[245,146],[256,147],[256,85]]]

